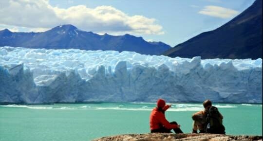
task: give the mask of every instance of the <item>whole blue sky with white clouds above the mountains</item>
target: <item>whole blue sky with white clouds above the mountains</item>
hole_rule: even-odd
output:
[[[214,30],[255,0],[0,0],[0,30],[44,32],[59,25],[100,35],[131,34],[171,47]]]

